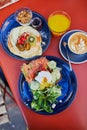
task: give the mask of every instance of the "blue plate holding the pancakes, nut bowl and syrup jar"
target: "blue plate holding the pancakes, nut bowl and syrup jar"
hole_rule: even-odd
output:
[[[42,53],[44,53],[44,51],[46,51],[46,49],[48,48],[49,44],[50,44],[50,40],[51,40],[51,32],[49,30],[47,21],[45,20],[45,18],[43,16],[41,16],[40,14],[33,12],[33,18],[34,17],[39,17],[42,20],[42,28],[41,30],[39,30],[41,37],[42,37],[42,41],[45,42],[46,44],[42,44]],[[5,22],[2,25],[1,28],[1,42],[2,42],[2,46],[4,48],[4,50],[12,57],[16,58],[16,59],[20,59],[20,60],[32,60],[35,57],[32,58],[22,58],[20,56],[14,55],[13,53],[10,52],[9,48],[8,48],[8,35],[10,33],[10,31],[17,27],[20,26],[20,24],[15,20],[15,16],[14,14],[10,15]]]

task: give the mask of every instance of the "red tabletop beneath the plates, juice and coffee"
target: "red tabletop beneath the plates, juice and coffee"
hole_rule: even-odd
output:
[[[86,0],[20,0],[0,10],[0,26],[9,15],[23,6],[39,12],[46,19],[53,11],[64,10],[70,14],[72,19],[70,30],[87,31]],[[52,36],[50,46],[43,55],[52,55],[63,59],[59,53],[59,40],[60,37]],[[29,110],[21,101],[18,80],[20,66],[23,62],[9,56],[0,44],[0,66],[30,130],[87,130],[87,62],[78,65],[72,64],[78,81],[77,93],[72,104],[63,112],[50,116],[40,115]]]

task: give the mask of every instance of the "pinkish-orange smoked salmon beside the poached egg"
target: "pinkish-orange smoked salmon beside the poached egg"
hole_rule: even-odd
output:
[[[47,70],[47,63],[48,60],[45,57],[33,60],[29,64],[24,63],[21,70],[25,76],[26,81],[31,83],[39,71]]]

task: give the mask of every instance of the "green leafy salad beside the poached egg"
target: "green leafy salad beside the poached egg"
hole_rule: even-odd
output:
[[[43,91],[33,91],[34,99],[31,103],[31,108],[36,111],[46,111],[52,113],[52,104],[57,103],[57,98],[61,95],[61,87],[53,86],[45,88]]]

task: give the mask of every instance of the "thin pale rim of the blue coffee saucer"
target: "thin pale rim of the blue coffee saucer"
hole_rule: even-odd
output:
[[[67,34],[69,34],[69,33],[71,33],[71,32],[83,32],[83,33],[86,33],[87,34],[87,32],[85,32],[85,31],[83,31],[83,30],[79,30],[79,29],[72,29],[72,30],[70,30],[70,31],[68,31],[68,32],[66,32],[61,38],[60,38],[60,41],[59,41],[59,51],[60,51],[60,54],[62,55],[62,57],[66,60],[66,61],[68,61],[68,59],[66,58],[66,56],[62,53],[62,49],[61,49],[61,44],[62,44],[62,40],[63,40],[63,38],[67,35]],[[86,53],[85,53],[86,54]],[[71,60],[71,63],[73,63],[73,64],[82,64],[82,63],[86,63],[87,62],[87,59],[85,59],[84,61],[81,61],[81,62],[74,62],[74,61],[72,61]]]

